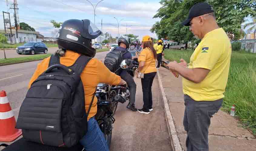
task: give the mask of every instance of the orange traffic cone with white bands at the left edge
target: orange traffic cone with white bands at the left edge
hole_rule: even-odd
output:
[[[10,106],[5,91],[0,92],[0,141],[11,142],[18,138],[22,131],[15,128],[14,111]]]

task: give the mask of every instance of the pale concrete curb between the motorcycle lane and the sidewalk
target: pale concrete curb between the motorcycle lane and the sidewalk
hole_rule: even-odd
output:
[[[166,123],[167,123],[168,133],[169,133],[169,136],[170,136],[171,148],[172,148],[173,151],[182,151],[181,144],[180,144],[180,141],[179,141],[179,138],[178,138],[178,135],[177,135],[177,131],[176,131],[173,119],[172,119],[171,111],[170,111],[170,108],[169,108],[169,105],[168,105],[168,102],[167,102],[167,98],[166,98],[166,95],[165,95],[165,90],[164,90],[164,87],[162,85],[162,79],[160,77],[159,71],[157,71],[157,76],[158,76],[158,78],[157,78],[158,79],[158,84],[159,84],[159,87],[161,89],[160,92],[161,92],[161,95],[163,97],[163,105],[164,105],[164,109],[165,109],[165,120],[166,120]]]

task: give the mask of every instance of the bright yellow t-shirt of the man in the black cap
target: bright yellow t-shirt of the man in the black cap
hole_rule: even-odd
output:
[[[200,83],[183,78],[183,92],[195,101],[224,98],[231,59],[231,43],[222,28],[207,33],[190,57],[188,68],[211,70]]]

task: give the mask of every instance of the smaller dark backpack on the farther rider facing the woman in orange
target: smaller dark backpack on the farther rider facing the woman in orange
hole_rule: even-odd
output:
[[[117,48],[113,48],[109,53],[107,53],[104,64],[111,71],[115,72],[115,74],[119,75],[121,70],[118,70],[121,62],[123,61],[123,55],[128,51],[118,50]],[[118,70],[118,71],[117,71]]]

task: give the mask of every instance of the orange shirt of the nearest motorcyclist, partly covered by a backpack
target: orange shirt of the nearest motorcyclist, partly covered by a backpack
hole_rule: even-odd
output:
[[[73,51],[67,51],[65,56],[60,57],[60,63],[65,66],[72,66],[76,59],[80,56],[79,53],[75,53]],[[30,82],[28,84],[28,88],[30,88],[31,84],[40,76],[45,70],[48,68],[50,61],[50,57],[44,59],[41,63],[38,63],[36,71]],[[85,69],[80,75],[81,80],[83,82],[84,91],[85,91],[85,110],[88,112],[91,99],[94,95],[96,86],[98,83],[106,83],[111,85],[118,85],[121,81],[120,76],[117,76],[115,73],[110,72],[109,69],[98,59],[92,58],[86,65]],[[87,120],[91,117],[95,116],[97,113],[97,97],[94,97],[94,100],[91,105],[91,110],[88,115]]]

